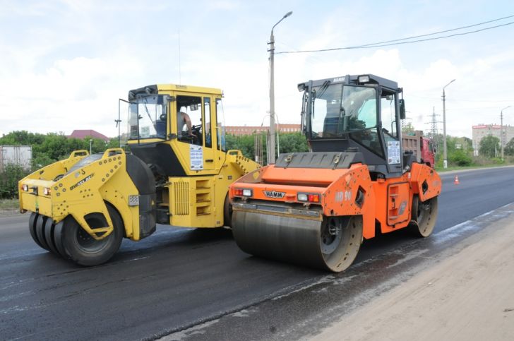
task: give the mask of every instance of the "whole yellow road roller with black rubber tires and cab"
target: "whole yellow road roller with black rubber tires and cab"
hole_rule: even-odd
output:
[[[32,238],[80,265],[97,265],[123,237],[138,241],[157,224],[230,225],[228,186],[258,164],[225,150],[221,100],[221,90],[186,85],[128,92],[120,104],[128,107],[130,152],[78,150],[20,181]]]

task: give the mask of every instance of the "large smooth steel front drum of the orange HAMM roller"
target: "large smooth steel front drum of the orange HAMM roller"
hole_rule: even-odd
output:
[[[344,216],[318,221],[239,209],[232,215],[232,232],[246,253],[339,273],[359,252],[362,219]]]

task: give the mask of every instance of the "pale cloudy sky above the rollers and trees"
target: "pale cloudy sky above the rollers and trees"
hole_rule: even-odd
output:
[[[226,125],[268,124],[267,42],[288,11],[275,28],[276,52],[449,30],[514,15],[514,2],[0,0],[0,134],[116,136],[118,98],[155,83],[221,88]],[[454,78],[446,88],[448,134],[470,137],[474,124],[500,124],[510,104],[504,124],[514,125],[513,43],[514,25],[506,25],[416,44],[277,54],[277,118],[299,123],[298,83],[374,73],[404,88],[418,129],[429,130],[433,107],[442,121],[442,88]]]

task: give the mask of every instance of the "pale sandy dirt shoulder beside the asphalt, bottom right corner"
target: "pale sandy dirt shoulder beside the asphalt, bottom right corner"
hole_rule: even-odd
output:
[[[514,222],[471,238],[313,340],[514,340]]]

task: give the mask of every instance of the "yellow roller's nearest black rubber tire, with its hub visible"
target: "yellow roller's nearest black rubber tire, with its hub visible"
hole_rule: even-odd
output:
[[[107,205],[114,230],[105,239],[97,241],[85,232],[74,219],[64,220],[61,228],[61,241],[66,255],[71,261],[84,266],[100,265],[109,261],[118,251],[123,239],[124,229],[121,217],[110,205]],[[104,227],[105,218],[100,213],[90,213],[85,216],[91,227]]]

